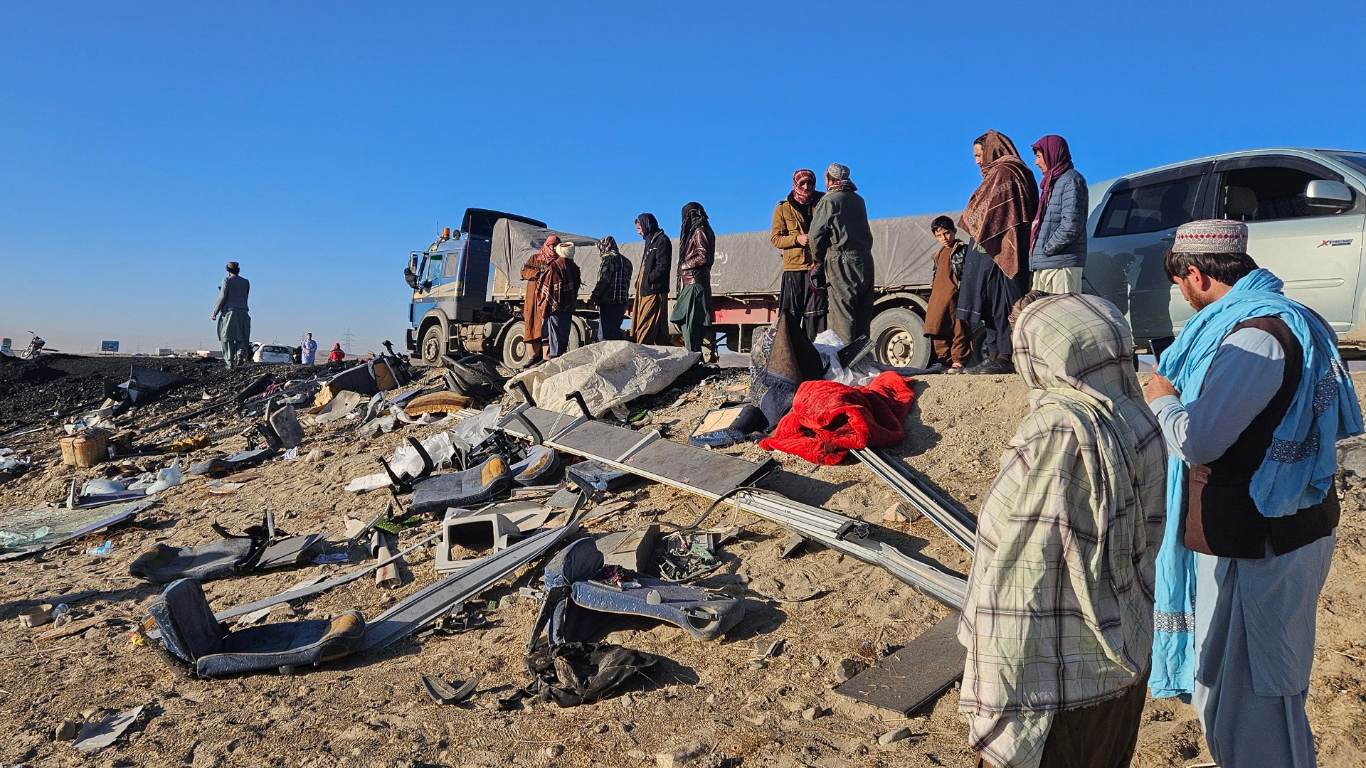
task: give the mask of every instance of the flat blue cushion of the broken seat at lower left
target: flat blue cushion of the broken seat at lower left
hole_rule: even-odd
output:
[[[365,618],[347,611],[333,619],[311,619],[247,627],[229,634],[221,650],[195,660],[195,672],[221,678],[240,672],[320,664],[347,656],[365,640]]]

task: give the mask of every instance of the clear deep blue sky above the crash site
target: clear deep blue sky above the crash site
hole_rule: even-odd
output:
[[[3,3],[0,336],[216,348],[236,260],[255,340],[378,348],[466,206],[764,230],[839,161],[874,217],[951,210],[988,128],[1091,180],[1361,150],[1363,30],[1361,1]]]

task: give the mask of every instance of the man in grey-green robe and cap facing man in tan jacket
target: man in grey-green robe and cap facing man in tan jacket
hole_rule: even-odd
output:
[[[829,282],[829,327],[846,344],[873,323],[873,230],[850,169],[831,163],[825,197],[811,212],[810,246]]]

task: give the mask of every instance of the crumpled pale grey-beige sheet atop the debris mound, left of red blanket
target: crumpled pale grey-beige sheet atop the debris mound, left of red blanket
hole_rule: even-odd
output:
[[[564,398],[581,392],[589,410],[598,417],[613,406],[664,391],[701,357],[682,347],[598,342],[523,370],[510,385],[525,381],[537,407],[574,415],[579,406]]]

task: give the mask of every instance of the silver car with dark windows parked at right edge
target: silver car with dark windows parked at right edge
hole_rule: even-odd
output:
[[[1366,153],[1253,149],[1091,186],[1086,290],[1115,302],[1134,343],[1161,350],[1194,310],[1162,272],[1176,227],[1247,223],[1247,253],[1344,343],[1366,343]]]

